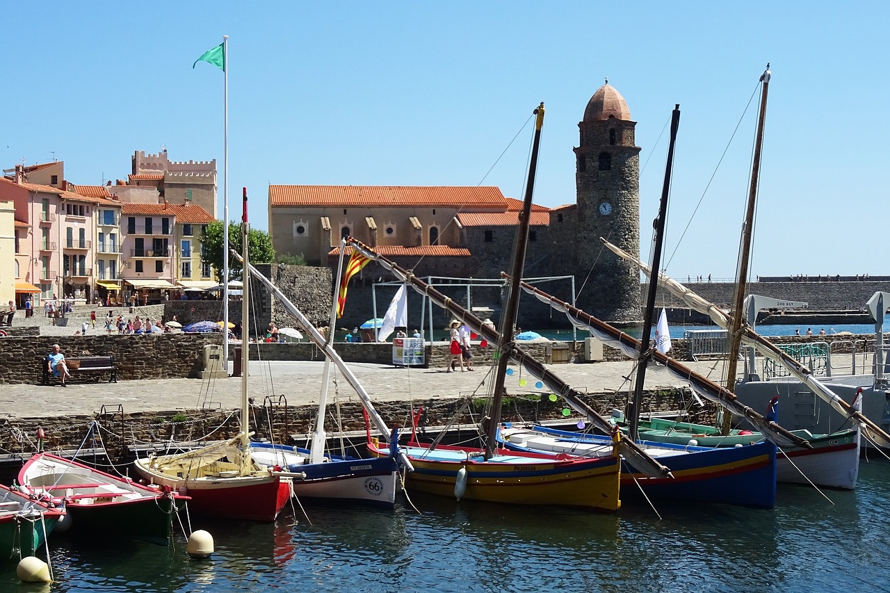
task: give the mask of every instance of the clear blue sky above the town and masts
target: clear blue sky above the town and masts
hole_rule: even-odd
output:
[[[228,35],[230,218],[247,186],[268,228],[269,183],[522,198],[530,127],[485,175],[541,101],[535,202],[554,207],[609,77],[638,122],[643,256],[680,103],[667,272],[730,278],[769,61],[752,273],[890,273],[887,22],[886,2],[32,2],[4,17],[0,164],[57,158],[98,184],[166,145],[216,158],[222,200],[223,72],[191,66]]]

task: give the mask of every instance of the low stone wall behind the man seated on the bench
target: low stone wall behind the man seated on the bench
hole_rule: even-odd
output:
[[[204,364],[204,345],[214,343],[219,343],[219,335],[4,337],[0,383],[39,383],[41,361],[53,344],[61,345],[69,357],[114,356],[118,379],[196,378]]]

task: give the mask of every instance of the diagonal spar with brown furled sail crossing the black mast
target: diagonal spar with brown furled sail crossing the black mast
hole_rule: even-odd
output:
[[[624,353],[628,353],[628,356],[630,355],[629,352],[634,350],[639,351],[639,349],[641,348],[642,340],[637,340],[635,337],[624,333],[620,329],[612,327],[605,321],[600,321],[593,315],[585,313],[584,311],[578,309],[578,307],[570,305],[565,301],[561,301],[554,296],[550,296],[540,288],[533,287],[527,282],[522,282],[521,286],[523,290],[534,295],[536,298],[538,298],[538,300],[546,301],[546,303],[554,309],[563,311],[575,320],[581,321],[582,323],[586,324],[592,332],[596,332],[596,337],[599,337],[601,340],[605,340],[608,345],[617,347],[611,344],[611,342],[617,342],[619,345],[621,345],[621,348],[619,349]],[[572,322],[574,323],[574,321]],[[651,359],[658,362],[659,364],[665,365],[667,369],[674,373],[676,377],[683,377],[684,380],[690,386],[692,386],[693,391],[704,394],[710,401],[719,402],[721,405],[724,406],[724,408],[732,411],[732,413],[737,416],[748,418],[748,420],[752,424],[757,426],[761,430],[761,432],[763,432],[765,435],[768,435],[771,441],[781,441],[781,446],[783,447],[799,446],[806,449],[811,449],[813,447],[813,445],[805,439],[802,439],[797,435],[793,435],[787,429],[782,428],[775,422],[766,420],[766,418],[764,418],[756,410],[753,410],[752,408],[739,402],[736,399],[735,394],[727,391],[722,386],[716,385],[716,383],[690,369],[682,362],[668,357],[667,354],[660,353],[657,349],[651,351]],[[547,370],[544,370],[543,365],[541,365],[538,361],[532,362],[533,364],[537,364],[542,369],[541,372],[549,372]],[[644,363],[645,361],[643,361],[643,364]],[[532,374],[536,373],[536,369],[534,366],[530,366],[529,370]]]

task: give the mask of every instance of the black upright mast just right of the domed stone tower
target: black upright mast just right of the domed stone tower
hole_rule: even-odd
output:
[[[665,166],[665,180],[661,186],[661,199],[659,201],[659,217],[655,219],[655,246],[652,249],[652,269],[658,270],[661,266],[661,247],[664,243],[665,219],[667,218],[667,197],[670,194],[671,167],[674,165],[674,147],[676,145],[676,132],[680,127],[680,105],[674,106],[674,112],[670,120],[670,142],[667,145],[667,165]],[[640,438],[640,408],[643,405],[643,383],[646,380],[646,361],[651,356],[652,348],[649,334],[652,330],[652,315],[655,312],[655,292],[659,288],[658,282],[649,283],[649,294],[646,297],[646,308],[643,312],[643,333],[640,334],[640,350],[636,358],[636,380],[634,382],[634,399],[630,404],[630,438],[634,441]]]

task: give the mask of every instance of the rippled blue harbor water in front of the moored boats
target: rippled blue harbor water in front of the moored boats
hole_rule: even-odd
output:
[[[890,591],[888,492],[890,461],[872,457],[855,491],[781,485],[771,510],[627,502],[597,515],[416,495],[419,513],[401,500],[306,506],[307,520],[296,507],[275,524],[193,523],[215,540],[199,561],[182,533],[170,548],[51,536],[56,582],[22,585],[6,563],[0,590]]]

